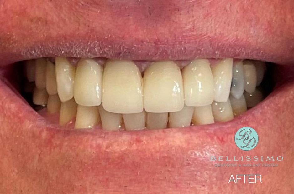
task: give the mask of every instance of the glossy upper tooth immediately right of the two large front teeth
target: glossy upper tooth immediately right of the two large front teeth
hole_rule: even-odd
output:
[[[182,74],[187,106],[205,106],[213,102],[213,76],[207,59],[192,61]]]

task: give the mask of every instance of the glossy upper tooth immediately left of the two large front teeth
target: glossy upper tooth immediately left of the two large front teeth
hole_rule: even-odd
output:
[[[81,59],[76,67],[74,96],[83,106],[98,106],[102,101],[103,68],[93,59]]]

